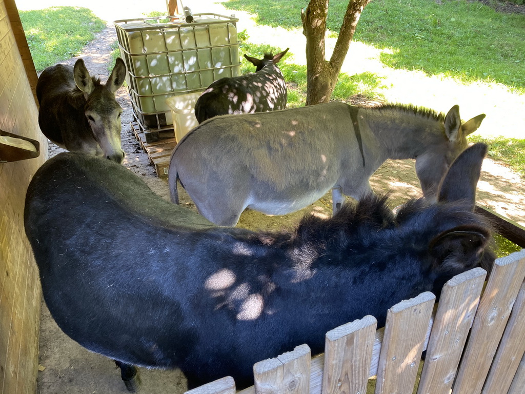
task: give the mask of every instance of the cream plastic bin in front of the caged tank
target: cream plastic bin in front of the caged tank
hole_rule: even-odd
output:
[[[175,139],[180,141],[188,131],[198,125],[195,118],[195,103],[203,90],[198,90],[184,95],[176,95],[166,99],[166,105],[170,107]]]

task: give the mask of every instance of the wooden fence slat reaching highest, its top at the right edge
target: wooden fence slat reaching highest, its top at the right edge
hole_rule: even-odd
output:
[[[523,277],[525,250],[495,261],[459,364],[454,394],[481,392]]]

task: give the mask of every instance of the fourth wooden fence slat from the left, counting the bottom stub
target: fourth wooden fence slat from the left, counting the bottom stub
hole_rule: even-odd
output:
[[[388,309],[375,394],[413,391],[435,299],[425,292]]]

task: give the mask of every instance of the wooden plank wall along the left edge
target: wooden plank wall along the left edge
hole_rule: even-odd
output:
[[[17,46],[16,19],[14,0],[0,0],[0,129],[39,140],[41,153],[36,159],[0,163],[0,393],[33,394],[41,292],[24,232],[24,198],[46,159],[47,140],[38,128],[37,106]],[[27,60],[27,51],[24,56]],[[33,81],[35,77],[31,75]]]

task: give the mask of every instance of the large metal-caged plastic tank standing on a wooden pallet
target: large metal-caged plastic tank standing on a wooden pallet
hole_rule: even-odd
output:
[[[135,115],[145,128],[171,124],[167,98],[240,75],[238,19],[218,14],[193,16],[189,24],[183,17],[170,23],[159,23],[159,18],[114,22]]]

